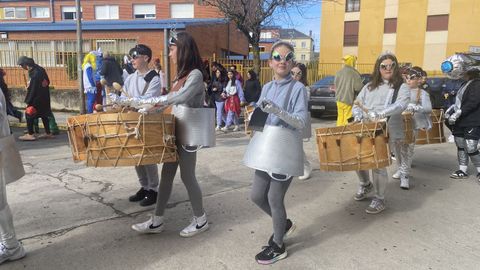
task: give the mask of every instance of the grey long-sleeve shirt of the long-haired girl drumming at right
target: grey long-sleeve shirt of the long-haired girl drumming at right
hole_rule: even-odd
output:
[[[388,83],[383,83],[379,87],[369,90],[369,85],[370,83],[363,87],[356,100],[359,101],[366,109],[376,112],[391,108],[392,110],[389,110],[389,113],[387,114],[387,116],[390,117],[388,121],[390,139],[403,139],[405,134],[403,132],[403,120],[401,114],[407,107],[407,104],[410,102],[410,88],[407,84],[403,83],[398,91],[396,101],[392,103],[394,92],[393,86]],[[361,109],[354,105],[353,110]],[[367,113],[363,112],[363,118],[368,118]]]

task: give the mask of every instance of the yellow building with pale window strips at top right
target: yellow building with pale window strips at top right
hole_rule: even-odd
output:
[[[455,52],[480,50],[478,0],[323,1],[321,63],[338,63],[342,55],[374,63],[382,52],[425,70],[440,70]]]

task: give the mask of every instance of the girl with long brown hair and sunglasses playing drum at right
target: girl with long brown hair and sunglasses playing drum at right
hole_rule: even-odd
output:
[[[363,120],[378,121],[388,119],[390,145],[404,139],[401,113],[410,100],[408,86],[403,83],[397,58],[390,53],[382,54],[375,62],[372,81],[366,84],[357,96],[352,114],[356,122]],[[398,156],[395,153],[395,156]],[[357,171],[360,185],[354,199],[367,198],[370,191],[375,197],[365,210],[369,214],[378,214],[385,210],[385,189],[387,187],[387,169],[373,169],[372,181],[367,170]],[[372,183],[373,182],[373,183]]]

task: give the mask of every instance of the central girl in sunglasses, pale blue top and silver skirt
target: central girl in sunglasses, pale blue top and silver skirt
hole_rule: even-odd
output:
[[[281,127],[289,129],[288,132],[293,131],[296,139],[298,139],[297,141],[299,141],[298,145],[302,147],[302,132],[307,122],[308,113],[307,91],[305,86],[295,81],[290,74],[293,68],[293,60],[294,49],[290,43],[279,41],[272,46],[269,65],[273,69],[275,80],[263,86],[258,103],[260,109],[267,113],[268,117],[264,131],[258,134],[255,133],[250,144],[256,139],[256,136],[262,136],[266,129]],[[283,146],[278,145],[278,147]],[[303,149],[296,150],[303,151]],[[268,240],[267,246],[255,256],[255,260],[259,264],[272,264],[285,258],[287,251],[283,240],[295,229],[295,224],[290,219],[287,219],[284,204],[285,194],[293,176],[260,170],[257,168],[265,164],[252,165],[247,161],[249,156],[265,155],[268,151],[270,150],[253,148],[249,145],[244,158],[244,163],[255,169],[251,199],[273,221],[273,235]],[[295,165],[298,165],[298,168],[303,168],[303,160],[301,158],[289,161],[292,163],[298,162]]]

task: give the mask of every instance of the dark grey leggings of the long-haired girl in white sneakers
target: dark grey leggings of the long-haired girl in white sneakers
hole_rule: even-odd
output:
[[[180,178],[185,185],[192,204],[193,214],[200,217],[204,214],[202,191],[195,177],[195,166],[197,163],[197,153],[185,151],[181,145],[177,145],[179,156],[178,162],[164,163],[162,167],[162,176],[158,188],[157,205],[155,215],[163,216],[165,208],[172,193],[173,179],[177,173],[177,167],[180,165]]]

